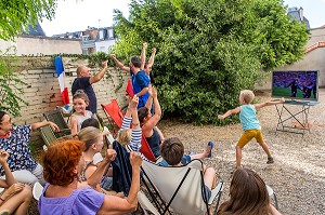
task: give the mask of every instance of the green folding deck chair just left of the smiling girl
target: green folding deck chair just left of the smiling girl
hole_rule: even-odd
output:
[[[44,112],[43,116],[48,121],[54,122],[58,126],[60,132],[54,133],[57,138],[72,134],[72,130],[69,129],[68,124],[64,120],[61,110],[58,109],[51,110]]]

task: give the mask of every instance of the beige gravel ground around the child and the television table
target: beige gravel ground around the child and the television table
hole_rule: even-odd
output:
[[[278,115],[275,106],[258,111],[263,137],[269,145],[274,164],[266,164],[266,154],[251,140],[243,150],[242,164],[255,170],[277,196],[280,211],[288,215],[325,214],[325,90],[320,91],[320,104],[310,108],[310,132],[304,135],[277,132]],[[259,100],[272,99],[270,93],[261,93]],[[280,106],[278,106],[280,107]],[[287,106],[292,112],[302,106]],[[217,113],[216,113],[217,116]],[[284,116],[288,116],[286,112]],[[298,119],[301,119],[300,116]],[[294,126],[294,120],[286,125]],[[213,166],[220,180],[225,182],[221,202],[229,197],[231,172],[235,165],[235,146],[242,135],[240,124],[227,126],[194,126],[171,120],[164,120],[159,127],[165,137],[179,137],[185,145],[185,151],[200,152],[208,140],[213,140],[212,158],[204,162]],[[273,201],[272,201],[273,202]]]

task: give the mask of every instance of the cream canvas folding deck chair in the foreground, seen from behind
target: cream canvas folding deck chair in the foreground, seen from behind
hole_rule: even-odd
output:
[[[143,161],[141,170],[142,182],[159,214],[171,214],[169,207],[181,215],[204,215],[206,212],[209,214],[208,206],[217,196],[216,210],[219,206],[223,182],[211,190],[211,198],[207,200],[200,160],[193,160],[184,166],[159,166]]]

